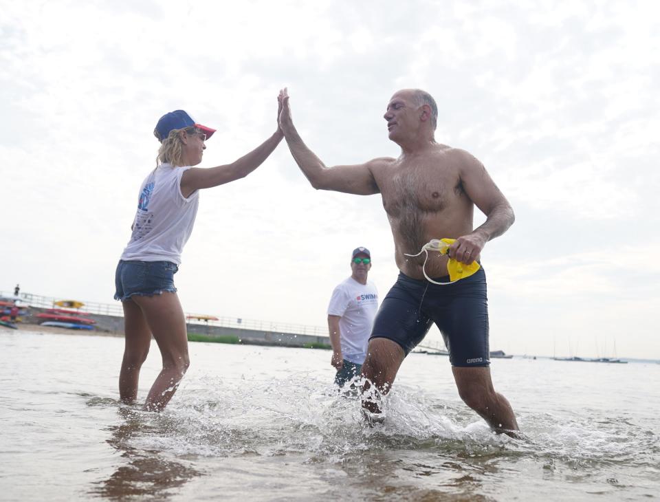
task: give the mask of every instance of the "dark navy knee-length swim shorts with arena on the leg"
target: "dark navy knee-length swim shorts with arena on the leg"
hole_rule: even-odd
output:
[[[433,279],[449,282],[449,276]],[[483,267],[456,283],[437,285],[403,273],[378,309],[372,338],[388,338],[408,353],[435,323],[452,366],[488,366],[488,299]]]

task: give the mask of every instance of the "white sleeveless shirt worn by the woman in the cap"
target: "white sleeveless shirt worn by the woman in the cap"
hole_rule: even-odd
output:
[[[188,169],[190,166],[160,164],[144,179],[133,234],[122,260],[181,264],[181,251],[192,232],[199,205],[199,190],[187,199],[181,193],[181,176]]]

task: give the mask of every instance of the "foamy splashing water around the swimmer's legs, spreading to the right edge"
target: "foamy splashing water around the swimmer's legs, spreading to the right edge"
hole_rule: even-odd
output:
[[[181,384],[162,413],[133,409],[140,425],[124,435],[122,448],[178,459],[302,457],[315,465],[363,468],[366,459],[391,463],[399,452],[412,459],[407,468],[415,472],[458,472],[461,486],[471,483],[465,476],[487,476],[504,461],[525,466],[532,459],[547,477],[573,472],[579,481],[620,463],[649,468],[648,460],[636,459],[638,448],[656,448],[657,455],[657,435],[621,420],[561,422],[548,413],[526,413],[518,421],[528,439],[519,440],[493,433],[462,402],[439,402],[416,387],[398,384],[382,404],[384,423],[369,426],[360,399],[338,392],[317,372],[261,379],[204,375]],[[624,485],[616,476],[608,479]]]

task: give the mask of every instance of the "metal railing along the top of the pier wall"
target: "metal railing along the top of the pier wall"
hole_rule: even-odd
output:
[[[0,296],[12,297],[12,292],[0,291]],[[51,309],[55,306],[56,301],[65,300],[68,298],[54,298],[52,296],[41,296],[32,293],[19,293],[19,298],[23,303],[27,303],[30,307],[39,307],[43,309]],[[81,312],[89,312],[90,314],[100,314],[104,316],[118,316],[123,317],[124,311],[118,303],[96,303],[89,301],[82,301],[85,304],[80,310]],[[190,324],[209,325],[218,327],[233,327],[238,329],[255,329],[259,331],[272,331],[282,333],[294,333],[300,335],[311,336],[328,336],[327,327],[311,326],[303,324],[292,323],[278,323],[272,320],[258,320],[258,319],[245,319],[232,316],[214,316],[217,320],[203,320],[196,318],[195,313],[186,312],[186,321]],[[202,316],[199,316],[202,317]]]

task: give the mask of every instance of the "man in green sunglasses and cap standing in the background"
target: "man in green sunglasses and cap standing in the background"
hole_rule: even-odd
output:
[[[366,358],[366,347],[378,309],[378,292],[367,280],[371,270],[371,253],[356,248],[351,254],[351,276],[332,292],[328,306],[328,327],[332,358],[337,369],[335,384],[344,386],[360,375]]]

